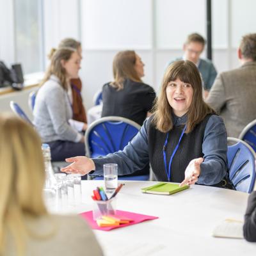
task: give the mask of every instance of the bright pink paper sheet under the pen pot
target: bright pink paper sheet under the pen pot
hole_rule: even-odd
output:
[[[80,215],[82,216],[82,218],[84,218],[89,223],[89,225],[92,227],[92,229],[99,229],[99,230],[104,230],[104,231],[109,231],[114,228],[122,228],[122,227],[126,227],[129,225],[134,225],[134,224],[140,223],[145,220],[158,219],[158,217],[156,217],[156,216],[149,216],[149,215],[138,214],[135,212],[126,212],[126,211],[118,211],[117,210],[116,216],[131,218],[134,221],[132,221],[131,223],[127,223],[127,224],[121,224],[120,226],[116,226],[116,227],[99,227],[97,225],[96,221],[93,220],[92,211],[82,212]]]

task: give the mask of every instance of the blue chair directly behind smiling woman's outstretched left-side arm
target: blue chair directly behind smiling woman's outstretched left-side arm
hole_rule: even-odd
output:
[[[106,156],[123,150],[138,133],[140,125],[120,116],[106,116],[93,122],[85,134],[86,156]],[[102,179],[102,177],[95,177]],[[120,180],[148,180],[149,175],[118,176]]]

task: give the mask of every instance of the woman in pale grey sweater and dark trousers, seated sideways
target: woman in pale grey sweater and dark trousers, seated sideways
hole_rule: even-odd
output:
[[[51,65],[36,94],[34,124],[44,143],[51,147],[52,161],[85,155],[84,136],[68,124],[72,118],[68,84],[78,77],[80,60],[73,48],[53,50]]]

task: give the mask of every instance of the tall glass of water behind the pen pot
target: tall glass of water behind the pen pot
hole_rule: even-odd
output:
[[[106,193],[114,193],[117,188],[117,164],[104,164],[103,170]]]

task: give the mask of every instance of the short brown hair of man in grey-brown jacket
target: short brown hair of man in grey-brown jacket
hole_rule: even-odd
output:
[[[239,48],[243,58],[256,61],[256,33],[243,36]]]

